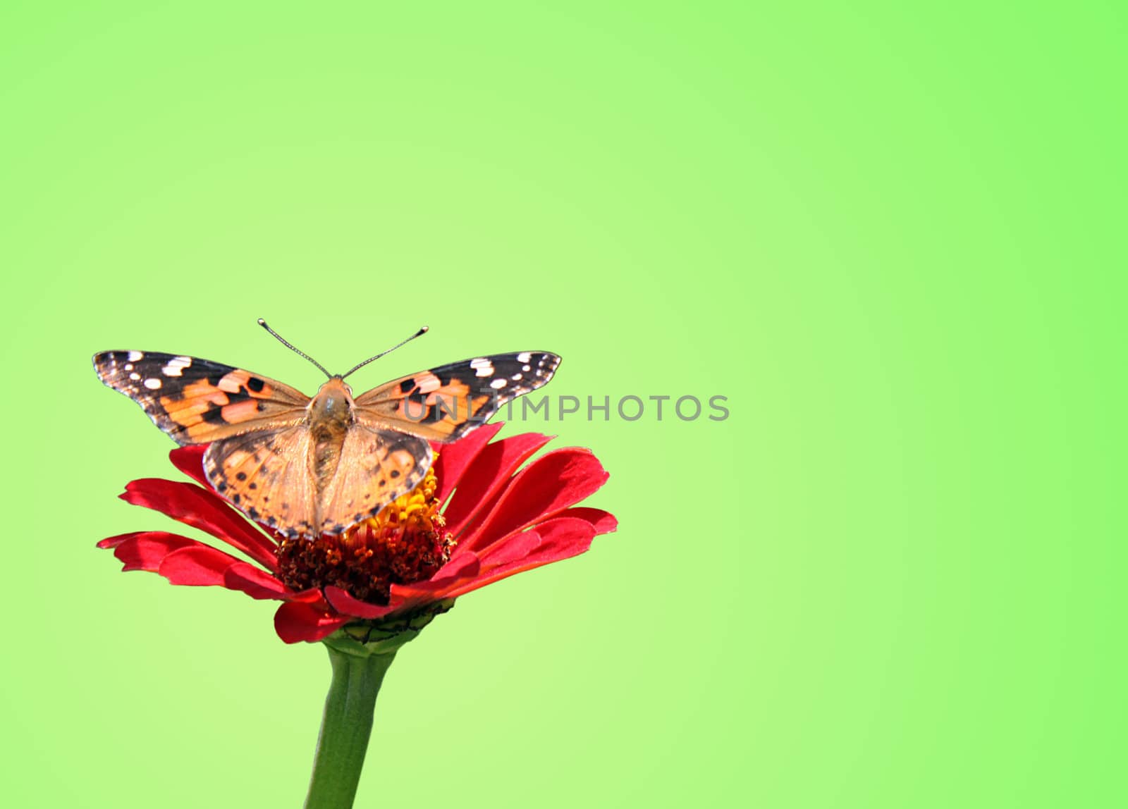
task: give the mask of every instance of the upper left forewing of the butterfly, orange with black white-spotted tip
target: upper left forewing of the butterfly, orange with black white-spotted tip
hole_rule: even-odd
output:
[[[103,352],[98,379],[121,391],[177,444],[209,442],[305,420],[309,397],[209,359],[157,352]]]

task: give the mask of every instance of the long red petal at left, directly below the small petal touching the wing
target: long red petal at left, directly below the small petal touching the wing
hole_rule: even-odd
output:
[[[270,570],[277,568],[274,543],[254,528],[218,495],[193,483],[144,478],[130,481],[121,498],[166,514],[185,525],[206,531],[237,548]]]

